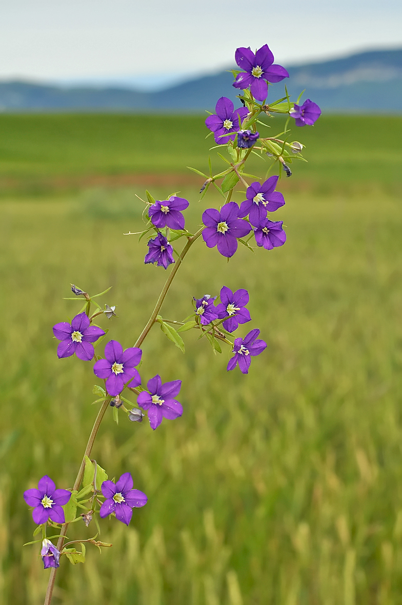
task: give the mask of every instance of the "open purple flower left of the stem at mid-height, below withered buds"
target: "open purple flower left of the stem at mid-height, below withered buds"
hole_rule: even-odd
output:
[[[53,334],[61,341],[58,345],[59,358],[71,357],[75,353],[79,359],[91,361],[95,353],[91,342],[97,341],[105,332],[97,325],[90,325],[86,313],[80,313],[71,325],[67,321],[54,325]]]

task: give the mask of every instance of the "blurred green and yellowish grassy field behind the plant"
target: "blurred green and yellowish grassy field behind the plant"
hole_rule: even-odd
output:
[[[92,364],[56,356],[51,327],[79,310],[62,297],[71,282],[113,286],[103,302],[119,317],[104,324],[130,347],[167,273],[122,235],[139,230],[142,184],[79,178],[171,170],[180,183],[211,140],[200,118],[186,120],[177,132],[179,119],[161,116],[0,116],[1,603],[42,603],[48,571],[37,546],[21,546],[35,529],[22,492],[43,474],[73,484],[97,412]],[[110,477],[130,471],[149,501],[129,528],[102,523],[113,549],[62,561],[55,605],[402,603],[401,126],[327,117],[297,131],[310,162],[283,181],[285,246],[226,263],[194,245],[163,316],[245,287],[252,322],[239,333],[259,327],[268,348],[243,376],[226,372],[226,350],[214,356],[186,332],[182,355],[154,327],[143,383],[182,379],[183,416],[153,432],[121,413],[117,426],[110,408],[93,456]],[[198,203],[197,182],[183,179],[189,229],[220,203]],[[169,178],[154,183],[171,192]],[[77,525],[71,539],[96,533]]]

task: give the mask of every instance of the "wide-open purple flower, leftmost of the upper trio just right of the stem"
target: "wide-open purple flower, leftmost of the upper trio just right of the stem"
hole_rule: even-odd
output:
[[[220,210],[208,208],[202,215],[206,229],[202,232],[208,248],[217,246],[224,257],[232,257],[237,250],[237,237],[245,237],[251,226],[239,217],[239,206],[236,201],[229,201]]]

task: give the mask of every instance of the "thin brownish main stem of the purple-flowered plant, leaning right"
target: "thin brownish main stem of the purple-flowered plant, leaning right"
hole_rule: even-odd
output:
[[[136,347],[140,347],[140,345],[145,340],[145,338],[147,338],[148,332],[150,332],[151,327],[153,326],[153,324],[156,321],[156,317],[160,311],[160,307],[162,307],[163,301],[166,298],[166,294],[169,291],[169,288],[171,286],[171,283],[174,280],[174,276],[176,275],[177,270],[179,270],[179,267],[182,264],[183,258],[185,257],[186,253],[191,248],[191,246],[193,245],[194,241],[196,241],[200,237],[200,235],[202,234],[202,230],[203,230],[203,227],[201,227],[201,229],[199,229],[199,231],[197,231],[197,233],[195,235],[191,235],[191,237],[188,238],[185,247],[183,247],[182,252],[180,252],[179,258],[177,259],[176,263],[174,264],[173,270],[171,271],[170,275],[168,276],[165,286],[163,286],[162,292],[160,293],[160,296],[157,300],[155,309],[153,310],[152,315],[151,315],[150,319],[148,320],[147,325],[142,330],[139,338],[137,339],[137,342],[135,345]],[[79,471],[78,471],[76,480],[74,482],[73,490],[78,490],[79,486],[81,485],[82,478],[84,477],[85,456],[88,456],[88,458],[89,458],[91,455],[91,451],[92,451],[94,441],[96,439],[97,431],[99,430],[99,427],[101,426],[101,422],[102,422],[103,417],[105,416],[105,411],[107,410],[108,405],[109,405],[109,400],[107,399],[103,402],[101,409],[97,413],[94,425],[91,430],[90,437],[88,439],[87,447],[85,448],[84,456],[82,457],[81,466],[79,467]],[[67,534],[67,528],[68,528],[68,523],[64,523],[62,525],[60,537],[58,540],[58,545],[57,545],[58,551],[61,551],[61,549],[63,547],[64,538]],[[47,591],[46,591],[44,605],[50,605],[50,603],[51,603],[51,597],[53,595],[53,588],[54,588],[54,581],[56,580],[56,572],[57,572],[56,567],[52,567],[51,571],[50,571],[48,585],[47,585]]]

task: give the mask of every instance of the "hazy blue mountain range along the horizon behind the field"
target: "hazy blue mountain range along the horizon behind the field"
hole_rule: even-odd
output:
[[[268,99],[303,99],[326,111],[401,112],[402,48],[352,54],[341,59],[285,66],[289,80],[269,87]],[[199,77],[145,93],[124,87],[56,87],[24,81],[0,82],[1,111],[202,111],[221,96],[236,102],[231,73]],[[237,105],[239,101],[237,100]]]

